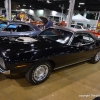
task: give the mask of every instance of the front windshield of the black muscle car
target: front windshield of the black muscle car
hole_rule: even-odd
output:
[[[42,36],[43,38],[51,39],[53,41],[56,41],[62,44],[67,44],[72,34],[73,33],[69,31],[65,31],[63,29],[49,28],[41,32],[39,36]]]

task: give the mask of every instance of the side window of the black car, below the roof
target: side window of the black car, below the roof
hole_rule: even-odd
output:
[[[82,45],[90,44],[94,42],[93,37],[88,33],[77,33],[75,34],[71,45],[77,45],[78,43],[81,43]]]

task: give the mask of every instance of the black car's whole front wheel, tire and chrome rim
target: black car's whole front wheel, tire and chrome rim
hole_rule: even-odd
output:
[[[47,80],[51,71],[52,68],[49,62],[41,62],[30,68],[26,73],[26,79],[31,84],[40,84]]]

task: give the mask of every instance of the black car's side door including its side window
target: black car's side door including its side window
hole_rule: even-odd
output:
[[[72,43],[66,50],[68,51],[66,55],[67,64],[90,59],[93,56],[95,47],[95,40],[88,33],[75,34]]]

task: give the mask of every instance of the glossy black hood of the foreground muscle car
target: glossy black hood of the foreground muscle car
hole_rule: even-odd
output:
[[[24,37],[23,37],[24,38]],[[30,41],[23,41],[23,38],[17,38],[15,40],[0,38],[0,52],[1,54],[6,52],[6,56],[14,56],[16,53],[25,53],[32,50],[43,50],[46,48],[52,48],[60,46],[59,43],[51,41],[49,39],[37,38]],[[53,44],[53,45],[52,45]]]

